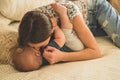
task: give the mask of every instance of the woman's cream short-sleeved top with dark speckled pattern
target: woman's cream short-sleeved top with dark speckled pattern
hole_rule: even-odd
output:
[[[87,22],[87,4],[86,0],[76,0],[76,1],[66,1],[65,3],[60,3],[68,8],[68,16],[72,20],[75,16],[82,13],[85,22]],[[35,10],[46,14],[48,17],[53,17],[58,15],[55,13],[51,5],[46,5],[38,7]]]

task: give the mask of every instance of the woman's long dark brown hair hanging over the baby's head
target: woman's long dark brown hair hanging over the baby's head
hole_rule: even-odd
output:
[[[27,46],[28,42],[39,43],[46,40],[52,33],[49,18],[39,11],[27,12],[20,23],[18,44]]]

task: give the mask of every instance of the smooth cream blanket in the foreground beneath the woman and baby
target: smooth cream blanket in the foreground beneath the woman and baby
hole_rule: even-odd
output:
[[[97,37],[103,57],[45,66],[37,71],[18,72],[0,65],[0,80],[120,80],[120,49],[108,37]]]

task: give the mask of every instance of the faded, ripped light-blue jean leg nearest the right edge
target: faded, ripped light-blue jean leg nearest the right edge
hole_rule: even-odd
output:
[[[113,42],[120,47],[120,16],[118,12],[106,0],[96,0],[96,8],[99,24]]]

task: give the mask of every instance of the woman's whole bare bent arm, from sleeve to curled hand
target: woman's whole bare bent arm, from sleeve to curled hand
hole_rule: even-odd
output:
[[[74,30],[78,34],[80,40],[83,42],[85,49],[77,52],[63,52],[54,47],[48,46],[44,50],[43,56],[49,61],[50,64],[54,64],[59,61],[89,60],[102,56],[99,46],[91,31],[84,22],[82,15],[79,14],[74,17],[72,23]]]

